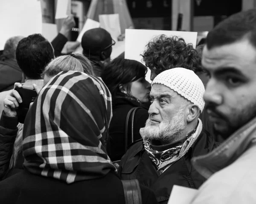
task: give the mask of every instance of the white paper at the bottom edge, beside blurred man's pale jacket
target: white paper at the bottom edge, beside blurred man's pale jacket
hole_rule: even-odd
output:
[[[198,190],[174,185],[167,204],[190,204]]]

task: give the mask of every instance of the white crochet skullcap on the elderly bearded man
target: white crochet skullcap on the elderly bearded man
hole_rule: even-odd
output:
[[[195,105],[198,105],[200,112],[204,109],[203,95],[204,84],[192,70],[177,67],[161,72],[154,78],[154,83],[160,83],[169,87]]]

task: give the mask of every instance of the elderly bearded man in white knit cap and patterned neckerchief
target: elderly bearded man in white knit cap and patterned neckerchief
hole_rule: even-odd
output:
[[[136,141],[122,157],[122,180],[138,179],[167,204],[173,185],[197,189],[205,178],[191,158],[217,145],[198,118],[204,109],[204,84],[189,69],[166,70],[151,84],[149,118]]]

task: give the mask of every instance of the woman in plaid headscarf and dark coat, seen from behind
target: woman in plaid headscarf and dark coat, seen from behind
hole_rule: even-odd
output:
[[[61,72],[29,109],[23,172],[0,182],[0,203],[124,204],[122,182],[106,151],[111,94],[99,78]],[[141,189],[143,203],[157,203]]]

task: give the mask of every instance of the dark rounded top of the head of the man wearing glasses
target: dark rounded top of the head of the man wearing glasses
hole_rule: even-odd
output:
[[[105,49],[105,47],[111,45],[111,43],[112,37],[110,33],[102,28],[87,30],[81,40],[83,52],[90,52],[90,54],[97,54]]]

